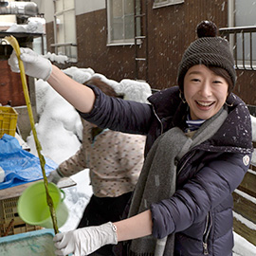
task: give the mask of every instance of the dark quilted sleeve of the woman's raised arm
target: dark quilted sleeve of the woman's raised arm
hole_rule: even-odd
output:
[[[96,101],[90,113],[79,112],[82,119],[114,131],[141,135],[148,133],[153,117],[150,104],[108,97],[97,87],[88,86],[94,90]]]

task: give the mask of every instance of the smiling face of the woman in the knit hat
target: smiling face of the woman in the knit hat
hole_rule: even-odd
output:
[[[210,119],[224,105],[229,84],[206,65],[193,65],[184,78],[184,96],[195,119]]]

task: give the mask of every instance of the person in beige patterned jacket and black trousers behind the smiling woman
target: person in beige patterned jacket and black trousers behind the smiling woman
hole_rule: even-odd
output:
[[[110,97],[121,97],[100,78],[93,77],[85,83],[95,85]],[[89,169],[93,195],[78,228],[121,219],[143,165],[145,138],[101,129],[82,119],[81,148],[48,176],[48,182],[57,184],[62,177]],[[113,255],[112,246],[101,247],[91,255]]]

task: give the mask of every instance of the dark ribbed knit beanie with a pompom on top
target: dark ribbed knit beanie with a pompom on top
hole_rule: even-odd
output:
[[[222,67],[228,71],[232,81],[231,91],[236,82],[236,73],[229,42],[217,36],[217,27],[210,21],[201,22],[196,30],[198,39],[187,48],[178,67],[177,82],[181,92],[187,71],[196,64]]]

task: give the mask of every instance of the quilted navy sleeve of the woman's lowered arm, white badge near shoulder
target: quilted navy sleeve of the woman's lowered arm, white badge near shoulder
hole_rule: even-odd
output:
[[[226,153],[211,159],[174,196],[152,205],[153,235],[162,238],[202,221],[242,182],[248,156]]]

